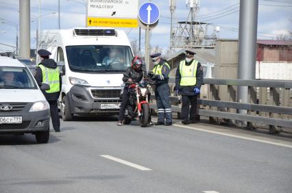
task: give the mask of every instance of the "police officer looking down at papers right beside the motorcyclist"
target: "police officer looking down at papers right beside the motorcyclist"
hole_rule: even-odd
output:
[[[150,55],[155,66],[148,75],[155,81],[155,97],[158,107],[158,122],[155,125],[172,125],[171,104],[169,103],[169,64],[161,57],[161,53]]]

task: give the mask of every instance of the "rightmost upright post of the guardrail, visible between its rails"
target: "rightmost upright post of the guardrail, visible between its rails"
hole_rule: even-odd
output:
[[[280,105],[280,88],[269,88],[269,104],[270,105]],[[270,117],[272,118],[279,118],[279,114],[270,113]],[[275,134],[278,133],[278,127],[274,125],[269,125],[269,133]]]

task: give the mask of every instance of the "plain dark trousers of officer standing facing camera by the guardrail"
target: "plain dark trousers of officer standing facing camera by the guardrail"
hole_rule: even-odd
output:
[[[190,115],[189,119],[188,114]],[[195,121],[196,115],[197,115],[197,95],[182,95],[182,120]]]

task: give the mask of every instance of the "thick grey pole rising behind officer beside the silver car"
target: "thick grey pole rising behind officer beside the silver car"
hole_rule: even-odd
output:
[[[30,58],[30,0],[19,0],[19,55]]]

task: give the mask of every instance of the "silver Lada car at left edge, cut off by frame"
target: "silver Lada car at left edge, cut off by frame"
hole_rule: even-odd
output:
[[[48,142],[49,103],[19,60],[0,56],[0,96],[0,134],[32,133],[38,143]]]

